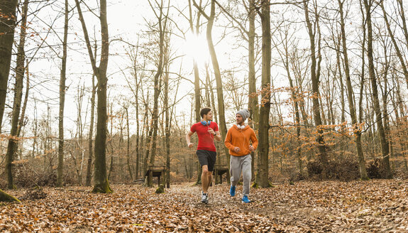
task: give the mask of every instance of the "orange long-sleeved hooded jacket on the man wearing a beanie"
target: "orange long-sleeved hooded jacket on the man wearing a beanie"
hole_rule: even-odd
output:
[[[250,129],[250,126],[248,125],[244,129],[238,129],[234,124],[228,129],[224,144],[229,149],[229,154],[231,156],[246,156],[250,153],[249,141],[252,141],[252,146],[255,149],[258,147],[258,139],[256,138],[253,129]],[[238,153],[233,151],[233,148],[236,146],[241,149]]]

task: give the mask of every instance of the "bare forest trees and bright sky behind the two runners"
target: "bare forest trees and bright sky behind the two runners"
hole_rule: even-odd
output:
[[[407,175],[402,0],[0,6],[0,188],[109,193],[107,180],[132,183],[149,166],[166,167],[167,185],[199,183],[184,136],[202,107],[223,139],[250,109],[261,187]]]

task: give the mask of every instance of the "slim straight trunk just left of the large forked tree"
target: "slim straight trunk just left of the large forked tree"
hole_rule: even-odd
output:
[[[57,187],[64,183],[64,106],[65,106],[65,71],[67,70],[67,38],[68,38],[68,0],[65,0],[64,41],[62,42],[62,65],[60,75],[60,112],[58,116],[58,168]]]

